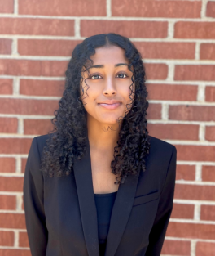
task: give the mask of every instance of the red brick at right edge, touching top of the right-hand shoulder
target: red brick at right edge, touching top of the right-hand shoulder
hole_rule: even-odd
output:
[[[175,145],[179,161],[208,161],[214,162],[215,146]]]

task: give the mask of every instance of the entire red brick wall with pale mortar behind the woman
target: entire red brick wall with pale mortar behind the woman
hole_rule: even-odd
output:
[[[0,255],[28,256],[22,187],[73,47],[115,32],[147,69],[148,130],[178,150],[162,255],[215,255],[215,1],[0,0]]]

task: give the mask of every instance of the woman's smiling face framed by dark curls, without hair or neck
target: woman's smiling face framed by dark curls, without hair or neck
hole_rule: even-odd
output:
[[[96,48],[95,54],[90,56],[94,61],[89,69],[90,75],[87,71],[82,72],[84,94],[80,87],[88,119],[102,124],[117,124],[116,120],[125,115],[126,104],[131,102],[129,86],[133,73],[129,71],[129,61],[124,55],[121,47],[111,46]]]

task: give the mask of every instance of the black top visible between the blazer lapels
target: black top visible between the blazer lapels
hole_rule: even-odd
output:
[[[99,232],[99,256],[104,256],[116,192],[94,194]]]

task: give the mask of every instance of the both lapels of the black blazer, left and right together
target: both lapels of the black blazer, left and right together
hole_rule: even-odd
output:
[[[81,160],[74,159],[74,176],[80,205],[81,222],[89,256],[99,256],[99,237],[97,210],[94,202],[94,189],[90,160],[90,143],[86,140],[86,155]],[[120,184],[112,209],[105,256],[114,256],[129,219],[138,184],[139,171],[128,175],[125,183]]]

